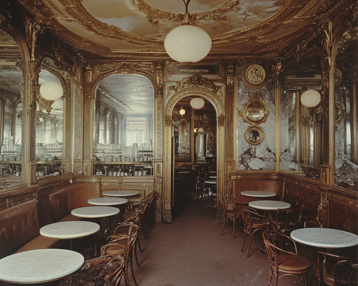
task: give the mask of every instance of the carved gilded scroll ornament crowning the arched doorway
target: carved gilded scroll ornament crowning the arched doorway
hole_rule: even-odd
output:
[[[178,90],[186,87],[204,87],[207,89],[211,89],[213,93],[218,94],[221,99],[223,98],[221,85],[215,85],[210,79],[202,77],[199,74],[193,74],[192,76],[184,78],[180,82],[177,82],[176,85],[171,85],[170,87],[168,87],[168,93],[166,97],[169,97],[171,90],[174,90],[174,92],[178,92]]]

